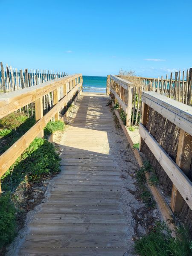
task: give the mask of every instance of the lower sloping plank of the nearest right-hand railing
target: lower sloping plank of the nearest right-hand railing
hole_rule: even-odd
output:
[[[192,209],[192,182],[142,124],[139,126],[139,133],[143,140],[145,140],[145,143],[148,145],[152,154],[154,154],[166,174],[169,176],[170,180],[172,180],[183,199],[189,205],[190,209]]]

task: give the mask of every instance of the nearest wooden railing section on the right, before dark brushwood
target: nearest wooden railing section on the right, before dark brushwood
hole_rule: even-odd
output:
[[[190,171],[192,160],[192,108],[155,92],[143,92],[142,102],[142,121],[139,125],[139,133],[141,140],[144,140],[151,154],[173,183],[171,209],[173,212],[179,212],[183,200],[192,209],[192,182],[186,176]],[[176,163],[145,128],[147,122],[156,121],[148,119],[149,107],[180,128]]]

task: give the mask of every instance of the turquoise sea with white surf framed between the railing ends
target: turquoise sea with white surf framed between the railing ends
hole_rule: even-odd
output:
[[[83,76],[83,91],[106,93],[106,76]]]

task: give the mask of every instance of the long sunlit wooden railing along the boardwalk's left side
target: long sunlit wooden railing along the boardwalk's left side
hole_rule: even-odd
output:
[[[75,74],[0,95],[0,118],[35,102],[36,119],[35,125],[0,156],[0,178],[15,163],[17,157],[23,153],[35,137],[44,136],[44,127],[47,123],[52,118],[58,120],[61,109],[72,102],[73,96],[81,90],[82,75]],[[53,96],[52,108],[43,116],[43,96],[47,94]]]

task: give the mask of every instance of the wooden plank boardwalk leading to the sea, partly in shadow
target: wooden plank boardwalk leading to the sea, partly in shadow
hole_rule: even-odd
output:
[[[128,226],[119,202],[123,186],[110,154],[116,132],[108,97],[83,93],[60,146],[61,174],[35,215],[19,256],[123,256]]]

